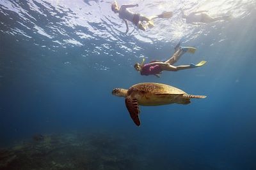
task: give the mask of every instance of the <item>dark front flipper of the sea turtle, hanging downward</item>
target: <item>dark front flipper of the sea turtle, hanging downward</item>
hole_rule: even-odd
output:
[[[133,122],[139,126],[140,125],[140,118],[139,118],[140,110],[139,110],[138,100],[127,96],[125,98],[125,105],[126,105],[127,110],[130,113],[130,116],[131,116]]]

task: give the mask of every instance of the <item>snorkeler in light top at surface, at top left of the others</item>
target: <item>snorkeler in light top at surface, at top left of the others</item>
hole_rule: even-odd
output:
[[[112,3],[112,5],[111,5],[111,10],[114,11],[115,13],[119,13],[119,18],[124,20],[125,25],[126,25],[126,32],[125,33],[127,33],[129,31],[127,20],[132,22],[139,29],[141,29],[143,31],[146,31],[147,27],[149,27],[149,28],[154,27],[154,22],[152,21],[153,19],[172,17],[172,12],[171,11],[170,12],[163,12],[160,15],[145,17],[145,16],[141,15],[140,13],[133,13],[132,11],[128,10],[128,8],[132,8],[132,7],[135,7],[135,6],[137,7],[139,5],[138,4],[124,4],[124,5],[120,6],[120,8],[119,8],[116,1],[114,3]],[[143,22],[145,22],[145,23],[143,23]]]

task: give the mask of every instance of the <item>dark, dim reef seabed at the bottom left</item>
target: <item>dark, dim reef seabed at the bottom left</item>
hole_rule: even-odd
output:
[[[0,169],[144,169],[139,145],[102,133],[36,134],[0,148]]]

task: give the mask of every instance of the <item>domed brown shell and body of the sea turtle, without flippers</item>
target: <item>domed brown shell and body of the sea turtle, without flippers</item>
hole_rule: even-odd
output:
[[[127,96],[138,99],[138,104],[156,106],[162,104],[182,103],[187,104],[189,99],[184,99],[186,92],[161,83],[138,83],[132,85]]]

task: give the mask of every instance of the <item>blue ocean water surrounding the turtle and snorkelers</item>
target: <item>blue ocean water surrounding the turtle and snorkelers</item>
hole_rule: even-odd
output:
[[[0,147],[34,134],[99,133],[136,150],[122,153],[136,163],[116,169],[256,169],[255,1],[118,1],[147,16],[173,11],[145,32],[129,24],[127,34],[111,3],[0,0]],[[232,18],[187,24],[180,8]],[[207,64],[161,78],[134,70],[143,57],[168,59],[180,39],[197,50],[176,65]],[[137,127],[111,91],[140,82],[207,98],[140,106]]]

